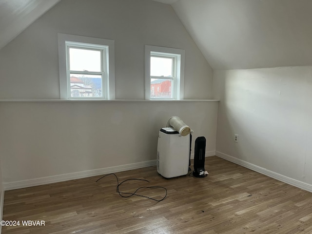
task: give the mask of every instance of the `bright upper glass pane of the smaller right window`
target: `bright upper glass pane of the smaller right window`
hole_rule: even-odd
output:
[[[151,76],[172,77],[172,58],[151,56]]]

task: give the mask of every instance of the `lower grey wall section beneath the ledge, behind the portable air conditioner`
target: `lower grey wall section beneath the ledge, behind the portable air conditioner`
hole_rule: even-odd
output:
[[[156,159],[160,128],[181,117],[215,151],[217,102],[2,102],[5,183]],[[5,123],[5,124],[3,124]]]

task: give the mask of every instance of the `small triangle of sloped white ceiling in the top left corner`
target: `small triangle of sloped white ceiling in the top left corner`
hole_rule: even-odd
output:
[[[0,0],[0,49],[59,0]]]

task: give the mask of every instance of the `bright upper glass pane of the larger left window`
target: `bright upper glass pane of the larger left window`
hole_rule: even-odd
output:
[[[99,50],[87,50],[69,48],[69,70],[71,71],[101,71],[101,52]]]

